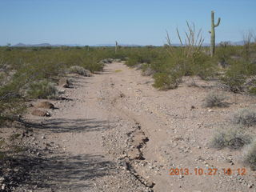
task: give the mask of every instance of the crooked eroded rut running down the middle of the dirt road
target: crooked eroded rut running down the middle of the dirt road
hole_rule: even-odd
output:
[[[114,82],[112,78],[106,78],[102,84],[102,94],[101,100],[104,100],[103,105],[111,114],[118,115],[119,121],[122,119],[123,124],[128,124],[129,128],[125,131],[126,143],[130,148],[122,149],[121,154],[115,154],[116,157],[121,155],[121,160],[119,163],[122,164],[130,174],[133,174],[135,178],[138,179],[142,185],[152,189],[154,187],[154,182],[148,181],[143,178],[142,175],[138,174],[138,171],[134,168],[134,161],[143,161],[143,149],[146,147],[146,142],[149,142],[149,138],[146,136],[142,126],[134,117],[134,114],[128,110],[124,110],[122,107],[118,107],[118,103],[122,102],[122,98],[126,98],[126,94],[114,87]],[[122,102],[122,106],[126,106]],[[118,131],[115,130],[113,134]],[[106,136],[107,138],[107,136]],[[150,190],[154,191],[154,189]]]

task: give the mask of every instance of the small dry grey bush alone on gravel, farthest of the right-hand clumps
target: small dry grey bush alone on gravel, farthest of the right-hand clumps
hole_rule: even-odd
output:
[[[227,103],[224,102],[224,100],[227,97],[224,94],[218,93],[218,92],[210,92],[209,94],[206,95],[205,102],[202,104],[202,106],[205,107],[224,107],[227,106]]]

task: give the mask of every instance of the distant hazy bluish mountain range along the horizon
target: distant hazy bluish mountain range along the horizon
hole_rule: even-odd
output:
[[[219,43],[217,43],[218,45]],[[231,45],[233,46],[242,46],[244,44],[243,41],[240,42],[230,42]],[[16,45],[14,45],[16,47],[22,47],[22,46],[85,46],[85,45],[81,45],[81,44],[56,44],[56,45],[52,45],[50,43],[40,43],[40,44],[24,44],[24,43],[18,43]],[[90,45],[90,46],[115,46],[115,44],[97,44],[97,45]],[[142,46],[142,45],[136,45],[136,44],[119,44],[119,46]],[[173,46],[180,46],[180,44],[178,43],[174,43]],[[203,43],[202,46],[210,46],[210,43]]]

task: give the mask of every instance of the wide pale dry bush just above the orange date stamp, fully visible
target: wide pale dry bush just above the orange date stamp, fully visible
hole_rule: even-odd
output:
[[[227,130],[218,130],[210,142],[210,146],[217,149],[225,147],[230,149],[239,149],[250,142],[250,136],[241,128],[229,128]]]

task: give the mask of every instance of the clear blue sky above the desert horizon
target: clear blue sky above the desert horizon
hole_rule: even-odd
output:
[[[176,27],[186,21],[202,28],[209,42],[210,11],[216,41],[241,41],[256,32],[256,0],[0,0],[0,45],[120,43],[163,45],[166,30],[178,42]]]

